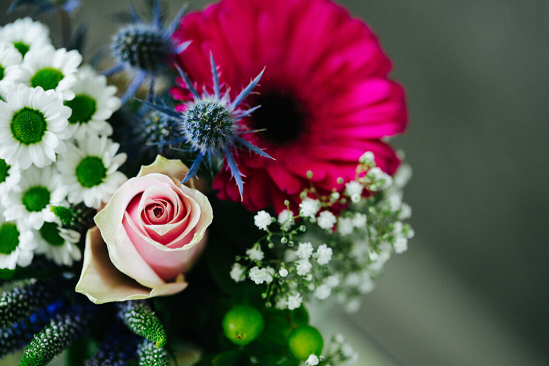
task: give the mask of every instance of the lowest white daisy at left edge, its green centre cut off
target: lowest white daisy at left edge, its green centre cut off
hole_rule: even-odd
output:
[[[0,212],[0,268],[27,267],[35,248],[32,231],[16,221],[6,221]]]

